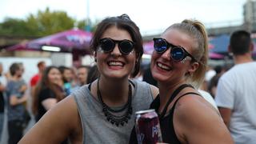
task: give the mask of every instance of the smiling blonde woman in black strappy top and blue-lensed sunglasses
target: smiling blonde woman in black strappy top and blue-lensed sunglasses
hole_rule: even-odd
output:
[[[208,38],[196,20],[184,20],[154,38],[151,72],[159,95],[150,109],[158,112],[166,143],[233,143],[218,110],[198,93],[205,77]],[[131,134],[130,142],[136,142]]]

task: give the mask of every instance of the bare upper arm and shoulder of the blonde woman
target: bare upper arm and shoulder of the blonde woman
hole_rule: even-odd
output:
[[[200,97],[180,99],[174,111],[174,130],[182,143],[234,143],[221,116]]]

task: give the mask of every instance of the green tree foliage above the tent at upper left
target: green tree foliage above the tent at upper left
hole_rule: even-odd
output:
[[[86,21],[76,21],[64,11],[38,10],[37,14],[30,14],[25,20],[6,18],[0,23],[0,34],[10,36],[42,37],[55,34],[64,30],[70,30],[78,24],[78,28],[85,30]],[[91,24],[91,30],[95,30],[95,24]]]

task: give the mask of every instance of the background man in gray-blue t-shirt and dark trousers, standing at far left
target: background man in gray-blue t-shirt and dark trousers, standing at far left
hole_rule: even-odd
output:
[[[28,95],[25,93],[26,82],[22,79],[24,68],[20,63],[13,63],[10,66],[11,78],[6,85],[7,108],[8,108],[8,133],[9,144],[16,144],[22,138],[23,130],[26,126],[25,102]]]

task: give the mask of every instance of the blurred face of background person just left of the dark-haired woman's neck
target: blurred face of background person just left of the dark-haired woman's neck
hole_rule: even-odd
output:
[[[87,84],[87,76],[90,70],[90,66],[78,67],[78,85],[83,86]]]

